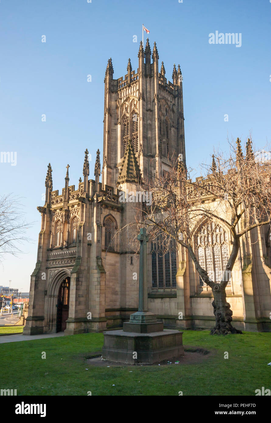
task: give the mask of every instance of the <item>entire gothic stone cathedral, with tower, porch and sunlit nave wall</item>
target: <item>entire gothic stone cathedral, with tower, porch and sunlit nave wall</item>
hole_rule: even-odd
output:
[[[140,178],[169,171],[168,157],[185,158],[183,88],[180,66],[172,82],[159,72],[156,44],[147,40],[130,59],[124,77],[113,78],[109,59],[104,78],[102,167],[97,151],[94,179],[89,179],[88,150],[83,179],[52,189],[49,164],[38,236],[38,256],[31,275],[29,312],[24,334],[65,331],[77,334],[121,327],[138,307],[139,256],[128,251],[118,229],[134,221],[134,204],[120,192],[137,192]],[[101,181],[100,181],[100,176]],[[209,231],[209,232],[208,232]],[[211,236],[206,237],[207,233]],[[200,264],[220,275],[230,252],[227,228],[214,222],[194,237]],[[180,247],[166,253],[159,241],[148,246],[148,310],[172,328],[214,326],[212,292],[202,283],[192,260]],[[246,236],[227,286],[227,301],[238,329],[270,330],[271,262],[267,227]]]

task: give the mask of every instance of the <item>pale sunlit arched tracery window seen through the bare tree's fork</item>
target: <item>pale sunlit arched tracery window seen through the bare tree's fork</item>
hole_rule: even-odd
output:
[[[219,283],[230,257],[227,232],[214,222],[206,223],[200,227],[195,236],[195,243],[200,266],[207,271],[214,282]],[[200,286],[206,286],[200,276],[199,278]],[[229,280],[228,286],[230,282]]]

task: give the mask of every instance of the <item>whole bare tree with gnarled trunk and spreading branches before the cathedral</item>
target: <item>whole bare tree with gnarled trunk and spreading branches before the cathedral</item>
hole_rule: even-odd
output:
[[[230,143],[228,155],[215,152],[212,165],[201,168],[203,176],[192,182],[179,158],[172,162],[169,173],[150,177],[144,189],[152,193],[152,203],[137,208],[136,220],[138,226],[148,228],[152,239],[162,236],[164,246],[170,248],[173,241],[188,250],[201,280],[214,295],[216,325],[211,334],[241,333],[231,325],[233,312],[226,301],[225,288],[241,237],[271,223],[271,162],[255,158],[250,139],[244,156],[237,139],[236,146]],[[200,265],[193,237],[204,225],[208,239],[219,222],[228,228],[232,247],[224,274],[216,281]]]

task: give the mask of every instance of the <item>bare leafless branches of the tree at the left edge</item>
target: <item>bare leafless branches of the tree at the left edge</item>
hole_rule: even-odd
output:
[[[22,253],[19,246],[30,241],[26,232],[32,223],[25,222],[20,200],[12,194],[0,197],[0,262],[6,254]]]

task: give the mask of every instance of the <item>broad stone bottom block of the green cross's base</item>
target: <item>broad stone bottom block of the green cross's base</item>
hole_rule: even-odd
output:
[[[158,363],[184,354],[182,336],[183,332],[178,330],[151,333],[124,330],[104,332],[102,357],[116,363]]]

